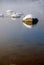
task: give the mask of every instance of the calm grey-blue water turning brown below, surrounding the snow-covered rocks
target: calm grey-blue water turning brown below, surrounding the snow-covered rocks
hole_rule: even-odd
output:
[[[21,18],[0,18],[0,65],[42,65],[44,63],[44,0],[0,0],[0,13],[23,12]],[[38,17],[31,29],[22,19],[27,14]]]

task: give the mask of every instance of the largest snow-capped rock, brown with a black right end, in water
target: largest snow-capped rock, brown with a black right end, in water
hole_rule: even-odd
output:
[[[34,25],[37,24],[38,19],[33,17],[32,15],[27,15],[23,18],[23,23],[27,25]]]

